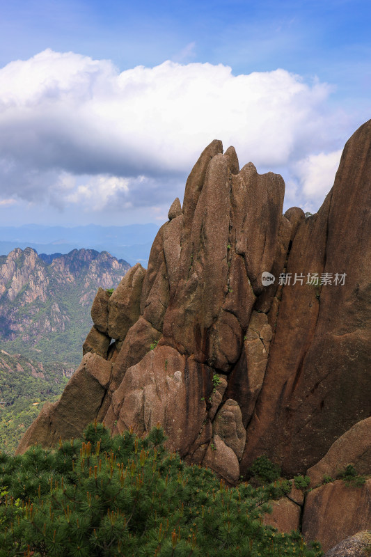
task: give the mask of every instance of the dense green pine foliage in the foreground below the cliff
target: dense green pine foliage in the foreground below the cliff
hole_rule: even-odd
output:
[[[146,438],[91,423],[59,448],[0,454],[0,557],[319,557],[297,532],[263,526],[276,482],[228,489],[210,469]]]

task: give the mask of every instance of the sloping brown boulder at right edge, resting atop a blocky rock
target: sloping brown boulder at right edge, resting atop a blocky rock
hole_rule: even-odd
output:
[[[358,474],[371,473],[371,417],[354,424],[336,439],[326,455],[307,471],[311,485],[322,483],[324,474],[336,478],[348,464]]]

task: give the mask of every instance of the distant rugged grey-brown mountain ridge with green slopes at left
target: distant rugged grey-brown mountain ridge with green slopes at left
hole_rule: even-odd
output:
[[[97,289],[116,288],[129,268],[92,249],[40,257],[28,247],[0,256],[0,347],[75,365]]]

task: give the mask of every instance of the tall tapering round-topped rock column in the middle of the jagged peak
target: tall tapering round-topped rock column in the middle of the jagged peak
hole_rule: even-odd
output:
[[[226,159],[215,155],[205,171],[189,229],[184,196],[180,280],[164,317],[166,342],[180,352],[195,354],[202,363],[211,357],[207,329],[212,327],[226,297],[229,189]]]

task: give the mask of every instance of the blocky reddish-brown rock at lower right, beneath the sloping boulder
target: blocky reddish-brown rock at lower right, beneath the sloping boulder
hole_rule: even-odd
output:
[[[342,480],[322,485],[306,496],[303,535],[327,551],[371,524],[371,480],[349,487]]]

